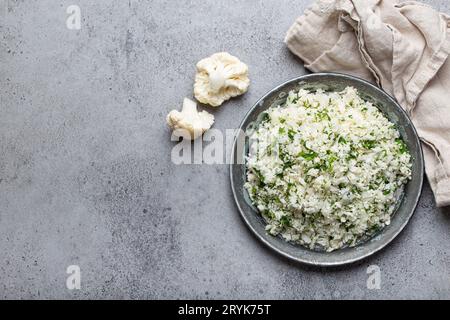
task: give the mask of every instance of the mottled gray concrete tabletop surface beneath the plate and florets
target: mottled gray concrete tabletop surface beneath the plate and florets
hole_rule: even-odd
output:
[[[170,161],[165,116],[192,96],[195,63],[227,50],[250,66],[250,91],[214,112],[237,127],[304,73],[282,40],[309,3],[1,0],[0,298],[450,298],[450,210],[428,185],[392,245],[322,270],[250,234],[228,166]],[[366,288],[372,264],[380,290]],[[69,265],[81,290],[66,288]]]

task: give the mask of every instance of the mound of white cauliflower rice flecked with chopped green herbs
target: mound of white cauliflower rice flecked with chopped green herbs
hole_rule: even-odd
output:
[[[266,230],[310,249],[355,246],[389,225],[411,156],[356,89],[290,92],[250,133],[247,189]]]

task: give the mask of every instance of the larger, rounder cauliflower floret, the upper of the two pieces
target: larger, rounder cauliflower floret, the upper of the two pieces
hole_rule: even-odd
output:
[[[244,94],[249,85],[247,65],[227,52],[215,53],[197,63],[194,95],[201,103],[218,107]]]

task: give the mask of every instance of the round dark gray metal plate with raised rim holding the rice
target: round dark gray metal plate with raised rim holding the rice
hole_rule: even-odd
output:
[[[356,247],[344,248],[333,252],[315,251],[287,242],[280,236],[274,237],[267,234],[264,229],[265,222],[252,206],[249,195],[244,188],[246,181],[245,156],[248,153],[248,139],[245,138],[245,143],[243,144],[242,142],[238,143],[237,138],[232,149],[231,188],[245,223],[256,237],[268,247],[287,258],[308,265],[339,266],[364,259],[383,249],[403,230],[414,214],[422,192],[424,164],[417,132],[405,111],[388,94],[369,82],[353,76],[336,73],[310,74],[283,83],[256,102],[240,125],[240,129],[244,132],[250,126],[257,125],[259,121],[258,116],[271,106],[283,104],[287,93],[291,90],[299,90],[300,88],[315,90],[321,88],[325,91],[342,91],[347,86],[355,87],[364,99],[376,105],[391,122],[397,125],[412,156],[412,180],[407,183],[402,196],[398,200],[391,224]]]

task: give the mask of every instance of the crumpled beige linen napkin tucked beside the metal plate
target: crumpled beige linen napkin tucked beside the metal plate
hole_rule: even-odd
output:
[[[285,42],[313,72],[381,86],[410,114],[439,207],[450,205],[450,17],[418,2],[318,0]]]

